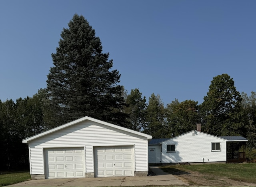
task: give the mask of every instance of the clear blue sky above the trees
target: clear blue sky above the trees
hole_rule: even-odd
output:
[[[256,0],[0,0],[2,101],[46,88],[75,13],[95,29],[128,93],[200,104],[221,74],[256,92]]]

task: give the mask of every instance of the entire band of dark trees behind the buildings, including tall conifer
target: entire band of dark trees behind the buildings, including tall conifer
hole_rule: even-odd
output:
[[[202,122],[203,132],[246,137],[248,155],[255,159],[256,92],[240,94],[228,74],[213,78],[202,104],[175,99],[165,106],[160,95],[146,101],[138,88],[128,93],[119,84],[113,60],[102,53],[100,38],[83,16],[75,14],[60,36],[47,88],[16,102],[0,100],[0,171],[28,169],[22,139],[84,116],[153,138],[171,138]]]

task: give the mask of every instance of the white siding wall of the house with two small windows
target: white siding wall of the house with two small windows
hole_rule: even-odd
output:
[[[162,163],[226,161],[224,139],[193,131],[162,143]],[[221,151],[212,151],[212,143],[220,142]],[[175,145],[175,152],[167,152],[167,145]]]

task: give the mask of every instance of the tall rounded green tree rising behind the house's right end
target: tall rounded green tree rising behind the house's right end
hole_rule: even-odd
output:
[[[202,131],[212,135],[241,135],[241,95],[228,74],[213,78],[200,105]]]

